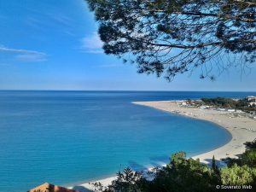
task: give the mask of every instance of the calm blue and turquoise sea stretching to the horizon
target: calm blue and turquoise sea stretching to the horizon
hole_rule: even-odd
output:
[[[200,154],[230,133],[134,101],[244,97],[246,92],[0,91],[0,191],[70,185]]]

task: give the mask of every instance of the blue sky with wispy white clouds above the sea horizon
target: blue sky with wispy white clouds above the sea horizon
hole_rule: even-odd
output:
[[[199,72],[172,83],[104,55],[97,25],[83,0],[0,0],[1,90],[256,90],[239,68],[216,81]]]

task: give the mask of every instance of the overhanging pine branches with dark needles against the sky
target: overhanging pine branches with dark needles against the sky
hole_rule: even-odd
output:
[[[201,67],[201,78],[256,58],[255,0],[85,0],[99,23],[106,54],[136,62],[139,73]]]

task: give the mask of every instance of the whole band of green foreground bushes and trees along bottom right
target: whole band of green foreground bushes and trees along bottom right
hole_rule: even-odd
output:
[[[241,189],[232,191],[247,191],[242,185],[256,189],[256,141],[245,143],[247,149],[238,159],[224,159],[227,166],[219,168],[215,158],[212,166],[202,164],[200,160],[187,159],[184,152],[172,154],[166,167],[154,168],[148,176],[141,172],[132,172],[126,168],[118,172],[107,188],[101,183],[95,183],[96,192],[215,192],[226,191],[222,186],[238,185]],[[220,189],[218,189],[220,188]],[[254,189],[254,190],[253,190]]]

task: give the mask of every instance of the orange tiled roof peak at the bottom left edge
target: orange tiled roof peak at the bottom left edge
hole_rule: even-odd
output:
[[[63,188],[50,183],[44,183],[34,189],[28,190],[27,192],[79,192],[79,191]]]

